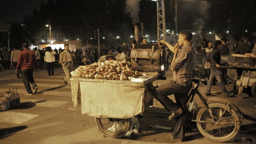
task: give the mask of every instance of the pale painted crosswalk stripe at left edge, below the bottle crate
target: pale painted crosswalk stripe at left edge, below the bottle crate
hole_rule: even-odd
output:
[[[16,113],[10,111],[3,111],[0,113],[0,122],[8,122],[8,123],[15,123],[15,124],[22,124],[32,118],[35,118],[39,115],[37,114],[30,114],[30,113]]]

